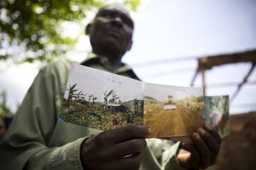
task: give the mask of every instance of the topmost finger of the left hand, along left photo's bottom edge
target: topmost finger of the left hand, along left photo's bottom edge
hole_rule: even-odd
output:
[[[145,125],[129,125],[116,129],[104,131],[97,135],[100,144],[113,145],[126,140],[147,137],[152,130]]]

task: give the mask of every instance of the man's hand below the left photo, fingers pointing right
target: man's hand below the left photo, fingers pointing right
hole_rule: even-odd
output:
[[[80,159],[86,170],[138,170],[142,150],[152,130],[145,125],[130,125],[92,134],[81,145]],[[131,155],[131,156],[128,156]]]

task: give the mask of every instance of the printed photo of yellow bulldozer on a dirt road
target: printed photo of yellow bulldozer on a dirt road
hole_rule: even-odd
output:
[[[144,124],[152,129],[149,138],[188,141],[203,112],[202,88],[145,83]]]

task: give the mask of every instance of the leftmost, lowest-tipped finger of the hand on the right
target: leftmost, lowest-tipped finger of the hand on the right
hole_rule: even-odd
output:
[[[202,167],[205,168],[210,165],[211,151],[209,150],[207,144],[204,142],[203,138],[199,136],[198,133],[193,133],[192,135],[193,143],[195,144],[201,158]]]

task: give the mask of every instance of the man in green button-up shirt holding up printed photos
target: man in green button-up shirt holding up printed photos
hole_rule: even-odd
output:
[[[124,7],[100,9],[86,33],[93,53],[82,65],[138,79],[121,62],[131,48],[133,33],[132,18]],[[170,146],[170,141],[160,139],[146,142],[143,137],[152,130],[144,125],[102,132],[57,122],[70,67],[71,63],[62,61],[39,71],[0,145],[1,167],[167,170],[206,168],[214,163],[221,138],[210,125],[193,134],[193,144],[178,142]]]

